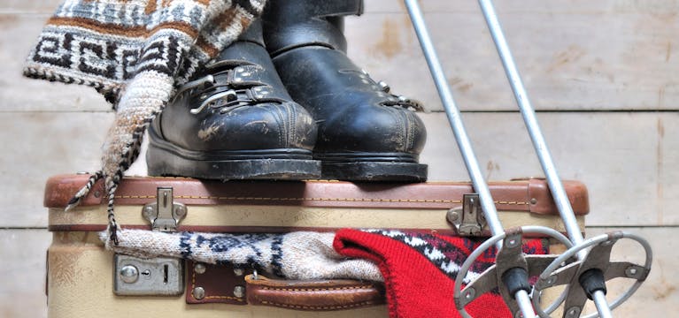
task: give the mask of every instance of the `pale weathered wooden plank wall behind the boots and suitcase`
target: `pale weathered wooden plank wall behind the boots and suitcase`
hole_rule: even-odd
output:
[[[0,3],[4,317],[45,315],[50,236],[42,186],[50,175],[96,170],[112,121],[110,106],[90,88],[20,76],[57,4]],[[427,0],[422,6],[486,176],[541,176],[477,4]],[[559,173],[589,186],[588,235],[625,229],[655,248],[651,278],[616,317],[676,312],[679,1],[498,0],[497,8]],[[422,115],[429,138],[421,161],[429,164],[429,178],[468,179],[403,4],[367,0],[366,14],[348,19],[346,29],[357,64],[431,110]],[[143,162],[131,173],[145,173]]]

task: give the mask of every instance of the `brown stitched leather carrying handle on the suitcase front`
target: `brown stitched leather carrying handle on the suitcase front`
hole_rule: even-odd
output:
[[[248,275],[245,286],[251,305],[297,310],[343,310],[385,301],[382,284],[349,279],[296,281]]]

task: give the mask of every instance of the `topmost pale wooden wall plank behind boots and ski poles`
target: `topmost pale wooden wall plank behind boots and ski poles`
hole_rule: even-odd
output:
[[[38,4],[40,3],[40,4]],[[57,1],[0,4],[0,110],[107,110],[87,87],[22,79],[21,64]],[[464,110],[513,110],[513,96],[476,2],[423,3],[446,77]],[[679,2],[498,2],[508,41],[539,110],[677,110]],[[596,26],[596,27],[595,27]],[[441,103],[405,7],[366,2],[347,19],[349,55],[398,94]]]

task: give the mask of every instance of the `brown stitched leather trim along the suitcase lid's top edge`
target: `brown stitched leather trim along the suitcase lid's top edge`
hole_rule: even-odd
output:
[[[44,205],[64,208],[85,185],[89,175],[61,175],[47,181]],[[563,182],[576,215],[589,212],[586,187],[577,181]],[[175,201],[187,205],[290,205],[322,208],[453,208],[463,194],[473,193],[469,183],[354,184],[341,181],[229,181],[193,178],[125,178],[116,193],[119,205],[143,205],[155,200],[158,186],[172,186]],[[490,193],[499,210],[556,215],[544,179],[491,182]],[[100,180],[81,205],[104,203]]]

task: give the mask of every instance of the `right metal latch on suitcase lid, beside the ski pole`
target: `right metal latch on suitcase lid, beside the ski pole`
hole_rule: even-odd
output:
[[[462,207],[448,210],[446,218],[455,225],[460,236],[479,236],[487,224],[479,195],[476,193],[465,194],[462,197]]]

